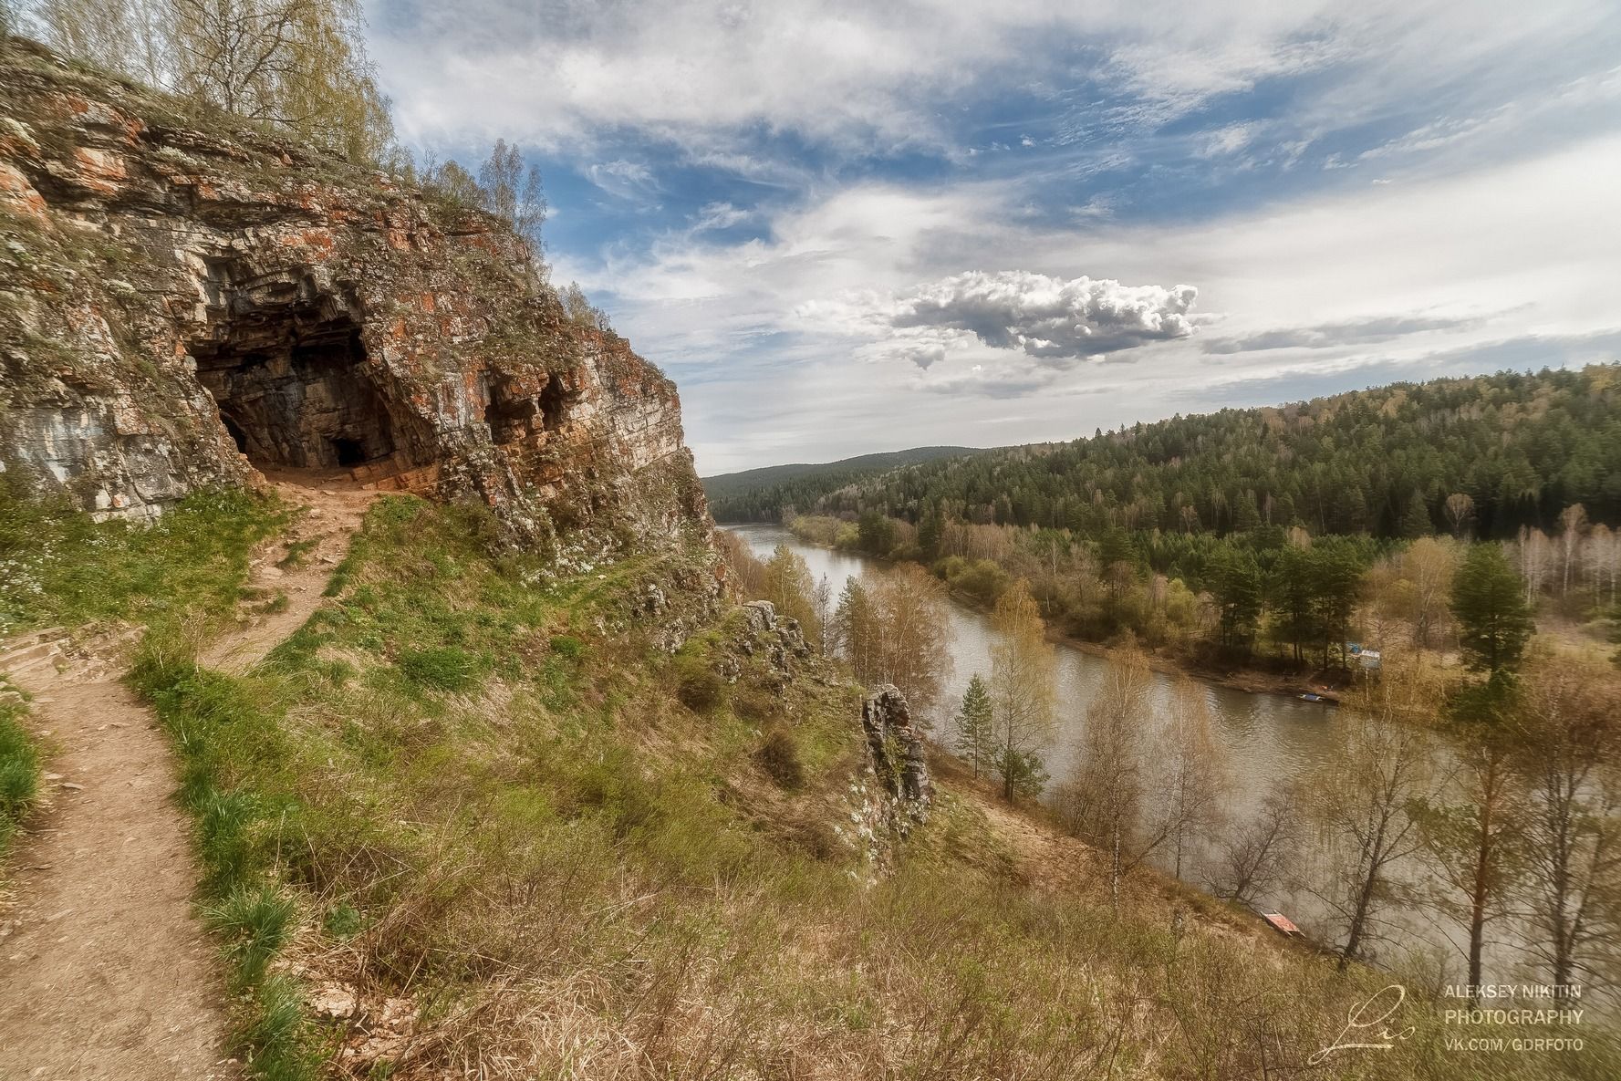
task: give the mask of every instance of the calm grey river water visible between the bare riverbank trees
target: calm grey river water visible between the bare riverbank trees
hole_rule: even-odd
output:
[[[810,575],[817,580],[827,577],[833,596],[845,588],[845,582],[859,577],[872,567],[882,567],[879,561],[864,556],[833,551],[817,545],[801,541],[780,525],[726,525],[749,543],[749,548],[762,559],[770,558],[778,545],[788,545],[810,566]],[[948,742],[952,737],[950,716],[961,702],[968,681],[979,673],[990,676],[990,647],[997,635],[990,621],[979,611],[952,601],[948,609],[952,627],[952,676],[947,681],[947,692],[935,723],[939,739]],[[1055,780],[1068,776],[1080,742],[1080,729],[1084,723],[1086,708],[1096,692],[1099,677],[1110,663],[1104,656],[1078,650],[1070,645],[1057,645],[1059,653],[1059,733],[1047,749],[1047,771]],[[1174,676],[1156,673],[1153,697],[1156,716],[1164,716],[1169,703]],[[1310,776],[1341,758],[1345,734],[1357,723],[1357,715],[1341,707],[1303,702],[1281,694],[1250,694],[1232,687],[1200,684],[1209,700],[1211,715],[1216,721],[1216,736],[1225,750],[1230,786],[1227,794],[1227,815],[1234,823],[1250,818],[1266,797],[1279,786],[1298,778]],[[1449,758],[1446,749],[1438,746],[1438,757]],[[1326,849],[1308,846],[1300,867],[1308,878],[1326,874]],[[1162,870],[1167,870],[1164,865]],[[1426,882],[1433,872],[1417,859],[1409,859],[1397,869],[1397,878],[1409,887]],[[1183,872],[1191,885],[1204,888],[1200,869],[1188,867]],[[1281,911],[1290,916],[1302,929],[1313,937],[1331,938],[1329,911],[1321,899],[1307,890],[1287,888],[1272,896],[1261,896],[1260,908],[1264,911]],[[1409,950],[1425,950],[1457,945],[1459,937],[1451,925],[1438,925],[1433,914],[1417,908],[1401,908],[1392,904],[1386,909],[1384,919],[1391,924],[1386,929],[1389,943],[1386,951],[1407,953]],[[1394,963],[1399,958],[1392,953],[1383,956]],[[1490,959],[1490,955],[1488,955]],[[1506,955],[1496,958],[1508,966]],[[1449,958],[1456,971],[1459,955]],[[1508,976],[1508,969],[1495,972]],[[1493,972],[1488,969],[1488,977]],[[1462,982],[1459,979],[1459,982]]]

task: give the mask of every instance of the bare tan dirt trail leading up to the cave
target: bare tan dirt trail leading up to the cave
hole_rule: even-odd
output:
[[[310,545],[297,567],[276,566],[284,546],[254,564],[253,583],[285,592],[287,606],[250,616],[206,664],[248,668],[308,619],[374,498],[331,476],[313,489],[272,480],[310,506],[287,538]],[[191,908],[198,870],[172,799],[173,755],[105,663],[66,663],[49,643],[11,661],[57,754],[42,784],[49,805],[10,861],[13,903],[0,903],[0,1078],[235,1078],[214,945]]]

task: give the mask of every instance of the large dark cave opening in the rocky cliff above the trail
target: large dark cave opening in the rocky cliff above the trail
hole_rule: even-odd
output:
[[[392,418],[349,321],[272,321],[191,353],[225,431],[261,468],[352,470],[396,454]]]

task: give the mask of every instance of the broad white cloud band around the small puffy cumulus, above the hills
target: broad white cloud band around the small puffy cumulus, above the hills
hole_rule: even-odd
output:
[[[1480,350],[1477,370],[1490,370],[1509,363],[1490,352],[1506,337],[1555,342],[1613,327],[1613,175],[1621,135],[1216,220],[1083,219],[1073,229],[1018,219],[1021,193],[1008,183],[859,185],[778,214],[767,240],[671,237],[593,269],[593,280],[572,267],[564,277],[619,293],[616,324],[682,386],[705,472],[953,439],[1028,442],[1287,400],[1316,392],[1313,378],[1362,386],[1362,370],[1365,382],[1465,371],[1470,350]],[[1080,378],[971,331],[872,318],[922,292],[917,282],[939,285],[974,264],[1054,280],[1109,267],[1122,282],[1196,282],[1196,311],[1222,313],[1222,339],[1250,340],[1221,357],[1198,335],[1149,342],[1123,353],[1141,363],[1109,368],[1104,381],[1104,370]],[[892,337],[914,350],[900,357],[913,363],[883,353]],[[1253,348],[1264,344],[1279,348]],[[1446,366],[1426,360],[1436,350],[1448,350]],[[922,405],[924,391],[942,394]],[[984,399],[1008,395],[1026,420],[989,423]]]

